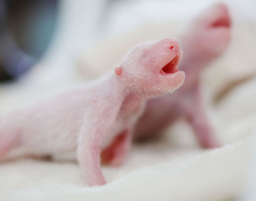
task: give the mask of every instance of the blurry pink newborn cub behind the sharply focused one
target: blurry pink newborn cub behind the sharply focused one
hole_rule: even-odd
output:
[[[203,108],[199,75],[226,50],[230,41],[230,25],[224,4],[208,8],[192,22],[180,39],[183,59],[179,69],[186,73],[186,80],[175,93],[147,101],[145,112],[135,128],[136,138],[153,136],[176,119],[186,117],[202,147],[220,145]]]

